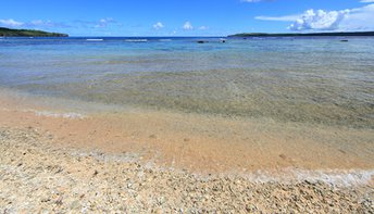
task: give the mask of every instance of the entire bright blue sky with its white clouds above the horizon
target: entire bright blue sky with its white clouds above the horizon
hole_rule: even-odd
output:
[[[374,30],[374,0],[2,0],[0,26],[70,36]]]

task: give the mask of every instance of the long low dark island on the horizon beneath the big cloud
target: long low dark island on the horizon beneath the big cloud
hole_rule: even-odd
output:
[[[335,32],[335,33],[308,33],[308,34],[265,34],[265,33],[242,33],[229,35],[228,37],[313,37],[313,36],[374,36],[374,32]]]

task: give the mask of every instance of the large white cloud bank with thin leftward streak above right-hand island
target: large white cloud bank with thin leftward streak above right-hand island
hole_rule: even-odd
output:
[[[374,0],[365,0],[374,1]],[[292,22],[290,30],[374,30],[374,4],[341,11],[310,9],[300,15],[257,16],[255,20]]]

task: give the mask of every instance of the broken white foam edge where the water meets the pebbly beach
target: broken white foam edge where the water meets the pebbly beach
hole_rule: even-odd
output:
[[[72,154],[86,156],[90,155],[101,161],[114,161],[114,162],[126,162],[136,163],[141,161],[141,155],[137,153],[122,153],[122,154],[107,154],[103,152],[73,152]],[[158,155],[158,154],[155,154]],[[149,160],[144,163],[145,168],[152,168],[158,171],[173,171],[183,173],[183,169],[175,168],[172,164],[170,167],[158,166],[155,159]],[[192,175],[200,179],[214,178],[205,175],[194,173]],[[300,169],[300,168],[284,168],[278,171],[255,171],[255,172],[244,172],[238,173],[233,171],[230,173],[217,174],[219,177],[241,177],[254,184],[266,184],[266,182],[279,182],[279,184],[299,184],[299,182],[324,182],[336,188],[341,187],[357,187],[369,185],[374,176],[374,169]]]

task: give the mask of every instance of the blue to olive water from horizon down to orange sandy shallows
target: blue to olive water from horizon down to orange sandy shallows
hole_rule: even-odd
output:
[[[374,128],[374,38],[102,39],[0,38],[0,87],[101,104]],[[209,42],[196,42],[201,39]]]

